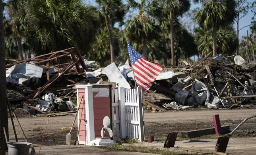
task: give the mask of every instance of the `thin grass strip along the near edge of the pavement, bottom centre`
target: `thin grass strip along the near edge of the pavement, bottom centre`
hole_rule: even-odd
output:
[[[130,152],[141,152],[141,153],[154,153],[159,155],[192,155],[187,153],[179,153],[167,149],[157,149],[157,148],[147,148],[138,146],[126,146],[126,145],[112,145],[112,146],[100,146],[106,149],[114,149],[120,151],[130,151]]]

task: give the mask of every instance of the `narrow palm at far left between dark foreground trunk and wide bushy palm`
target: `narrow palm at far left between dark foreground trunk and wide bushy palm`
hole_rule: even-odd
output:
[[[25,24],[25,6],[24,0],[9,0],[7,2],[8,15],[10,18],[10,25],[12,26],[12,31],[17,40],[17,47],[19,51],[19,60],[23,59],[23,49],[22,49],[22,33]]]

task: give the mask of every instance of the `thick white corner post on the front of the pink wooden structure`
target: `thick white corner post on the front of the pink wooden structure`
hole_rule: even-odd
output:
[[[93,112],[93,86],[86,85],[85,86],[85,119],[87,120],[86,124],[86,136],[87,143],[91,142],[95,139],[94,133],[94,112]]]

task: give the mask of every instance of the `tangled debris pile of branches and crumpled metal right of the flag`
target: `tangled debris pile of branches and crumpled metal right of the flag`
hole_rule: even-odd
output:
[[[185,78],[171,79],[169,86],[161,81],[157,87],[153,86],[154,93],[165,93],[165,97],[154,100],[144,95],[144,99],[169,110],[192,107],[231,109],[240,107],[239,104],[255,103],[256,61],[247,63],[236,56],[233,62],[225,62],[225,58],[203,59],[194,65],[184,61],[185,67],[179,73],[184,72]]]

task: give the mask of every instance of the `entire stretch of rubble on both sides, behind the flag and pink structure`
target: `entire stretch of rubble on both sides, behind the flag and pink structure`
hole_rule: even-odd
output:
[[[60,58],[66,57],[63,62]],[[256,62],[242,57],[209,55],[194,65],[163,67],[148,92],[144,106],[154,112],[188,108],[235,108],[252,103],[256,92]],[[231,63],[230,63],[231,62]],[[111,84],[134,88],[134,73],[128,60],[99,68],[86,60],[76,47],[6,65],[7,98],[15,108],[33,114],[69,115],[75,111],[75,85]],[[204,108],[203,108],[204,107]],[[63,113],[64,112],[64,113]],[[67,112],[67,113],[65,113]]]

